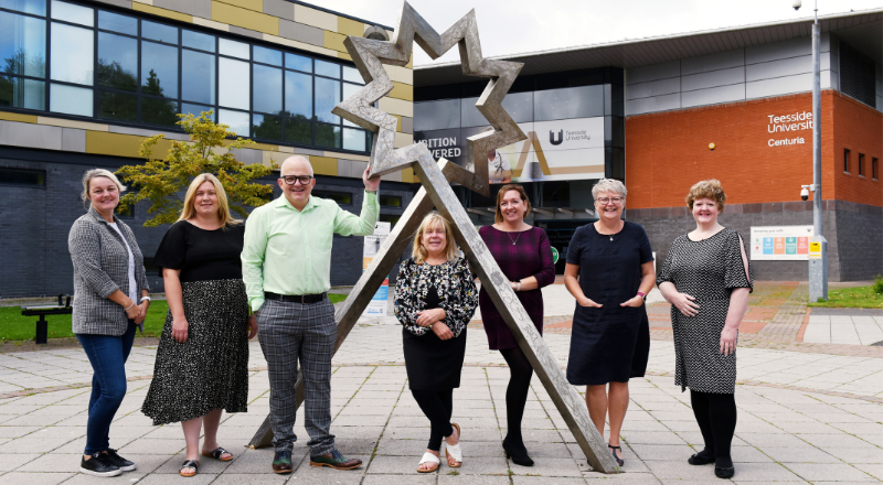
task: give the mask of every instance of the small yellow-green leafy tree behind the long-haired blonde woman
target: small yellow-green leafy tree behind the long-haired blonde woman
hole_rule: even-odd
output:
[[[203,111],[199,117],[190,114],[178,116],[181,118],[178,125],[190,133],[190,142],[170,140],[164,160],[152,158],[152,148],[166,138],[164,134],[141,142],[139,153],[147,162],[125,165],[117,171],[124,183],[136,188],[120,200],[120,209],[140,201],[150,201],[148,214],[153,214],[153,217],[145,226],[172,224],[181,214],[190,182],[205,172],[217,176],[227,193],[231,212],[241,217],[248,216],[247,206],[262,206],[273,197],[272,185],[251,182],[268,175],[272,169],[260,163],[246,165],[231,152],[254,141],[236,138],[225,142],[236,133],[228,131],[226,125],[212,122],[212,111]]]

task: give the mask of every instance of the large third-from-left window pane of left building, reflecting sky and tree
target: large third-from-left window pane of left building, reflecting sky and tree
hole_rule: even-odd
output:
[[[98,32],[98,66],[95,84],[130,91],[138,89],[137,40]]]

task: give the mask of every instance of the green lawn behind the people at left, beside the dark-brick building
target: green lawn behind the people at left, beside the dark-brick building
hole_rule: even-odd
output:
[[[345,294],[329,293],[331,303],[347,299]],[[164,300],[156,300],[150,304],[145,320],[145,335],[159,336],[166,324],[166,312],[169,305]],[[0,342],[3,341],[32,341],[36,334],[36,316],[22,316],[19,306],[0,306]],[[71,315],[49,315],[49,337],[73,337],[71,332]],[[140,333],[138,334],[140,335]]]

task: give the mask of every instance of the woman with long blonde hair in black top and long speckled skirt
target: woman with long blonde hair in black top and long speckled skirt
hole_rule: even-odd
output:
[[[216,441],[221,414],[247,411],[248,338],[257,323],[248,316],[242,280],[244,227],[231,218],[221,182],[203,173],[190,184],[181,218],[153,259],[166,282],[169,314],[141,411],[155,425],[181,422],[182,476],[198,472],[203,428],[202,455],[233,460]]]

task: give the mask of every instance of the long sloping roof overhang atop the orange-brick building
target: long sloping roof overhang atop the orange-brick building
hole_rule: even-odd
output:
[[[883,64],[883,9],[847,12],[819,18],[821,31],[838,37]],[[491,57],[524,63],[522,76],[588,69],[632,68],[695,57],[753,45],[809,37],[812,19],[743,25],[604,44]],[[414,85],[438,86],[477,80],[462,74],[459,62],[414,67]]]

